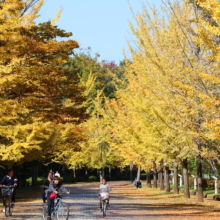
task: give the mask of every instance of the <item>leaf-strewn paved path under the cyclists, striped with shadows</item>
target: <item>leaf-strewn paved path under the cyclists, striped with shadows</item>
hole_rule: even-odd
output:
[[[211,216],[208,209],[201,205],[183,204],[181,200],[177,203],[167,204],[161,201],[160,196],[136,195],[135,188],[129,189],[129,195],[123,193],[128,190],[128,186],[115,185],[112,187],[110,209],[107,210],[106,220],[128,220],[128,219],[150,219],[150,220],[207,220],[219,219],[219,215]],[[142,190],[142,189],[141,189]],[[70,218],[77,220],[103,219],[99,211],[97,186],[94,185],[74,185],[71,188],[71,194],[64,196],[64,201],[70,206]],[[0,213],[1,220],[35,220],[42,219],[42,202],[40,200],[33,203],[17,203],[13,217],[4,218]],[[210,218],[209,218],[210,217]]]

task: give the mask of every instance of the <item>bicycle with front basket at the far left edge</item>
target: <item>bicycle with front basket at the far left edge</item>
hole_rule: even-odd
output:
[[[12,194],[14,192],[14,188],[16,186],[2,186],[2,196],[4,201],[4,207],[5,207],[5,216],[8,217],[9,215],[12,216],[12,204],[11,204],[11,198]]]

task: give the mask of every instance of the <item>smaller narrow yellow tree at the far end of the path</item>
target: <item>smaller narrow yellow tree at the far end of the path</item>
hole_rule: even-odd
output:
[[[87,88],[85,95],[89,97],[95,86],[95,77],[90,74],[87,81],[81,79],[81,83]],[[122,163],[120,154],[111,148],[113,141],[109,130],[108,121],[104,118],[105,97],[103,90],[97,91],[97,97],[88,98],[84,103],[90,117],[80,127],[84,129],[84,137],[87,139],[80,143],[80,149],[69,153],[67,164],[69,167],[87,167],[100,170],[100,180],[104,176],[104,168],[119,166]]]

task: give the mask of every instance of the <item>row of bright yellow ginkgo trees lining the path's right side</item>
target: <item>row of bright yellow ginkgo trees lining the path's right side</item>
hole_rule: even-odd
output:
[[[189,198],[187,162],[196,158],[203,201],[202,160],[216,174],[220,161],[219,6],[215,0],[182,0],[164,3],[162,13],[153,7],[151,14],[143,7],[136,26],[130,24],[136,39],[129,44],[132,59],[125,59],[122,78],[112,73],[113,99],[97,93],[84,124],[89,141],[81,157],[73,154],[74,164],[101,168],[132,161],[148,173],[153,167],[155,177],[159,170],[161,180],[164,168],[168,176],[172,167],[176,183],[181,165]]]

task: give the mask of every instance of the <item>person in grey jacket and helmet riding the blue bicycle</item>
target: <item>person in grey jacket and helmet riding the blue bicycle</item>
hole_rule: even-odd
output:
[[[59,192],[69,194],[66,188],[60,182],[60,175],[55,174],[53,181],[50,182],[49,188],[46,190],[47,193],[47,205],[48,205],[48,220],[51,219],[51,208],[52,208],[52,201],[53,199],[50,198],[52,193],[55,193],[57,196]]]

